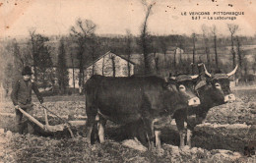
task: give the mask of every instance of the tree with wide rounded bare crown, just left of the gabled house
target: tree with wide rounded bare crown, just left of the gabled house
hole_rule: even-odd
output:
[[[95,35],[96,24],[91,20],[82,21],[78,19],[76,27],[71,27],[71,36],[75,38],[75,42],[78,46],[77,57],[79,59],[79,87],[80,90],[83,88],[85,82],[84,65],[85,65],[85,51],[86,43]]]

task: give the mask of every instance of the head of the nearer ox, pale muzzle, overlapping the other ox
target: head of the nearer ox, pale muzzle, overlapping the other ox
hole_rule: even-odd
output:
[[[193,79],[188,75],[169,77],[169,82],[175,85],[176,90],[187,99],[188,106],[200,105],[200,99],[195,95]]]

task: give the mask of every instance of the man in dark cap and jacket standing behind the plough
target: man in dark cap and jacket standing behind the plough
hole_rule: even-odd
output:
[[[26,132],[33,134],[32,122],[26,116],[23,116],[18,108],[21,107],[27,113],[32,114],[32,90],[41,104],[43,98],[36,83],[32,81],[32,69],[29,66],[24,68],[22,76],[23,79],[15,82],[11,94],[16,111],[16,130],[20,134],[26,134]]]

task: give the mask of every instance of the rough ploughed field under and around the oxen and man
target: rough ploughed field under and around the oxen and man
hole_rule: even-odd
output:
[[[0,162],[256,162],[243,155],[243,148],[256,140],[256,89],[233,90],[237,100],[209,111],[204,124],[196,127],[193,148],[178,148],[174,121],[162,131],[163,151],[148,151],[130,136],[129,130],[111,122],[106,142],[85,141],[85,127],[49,134],[34,127],[36,134],[19,135],[14,130],[14,109],[8,100],[0,107]],[[33,100],[36,101],[36,100]],[[46,97],[44,105],[66,120],[86,120],[84,96]],[[33,116],[44,121],[43,110],[34,102]],[[61,124],[49,115],[49,124]]]

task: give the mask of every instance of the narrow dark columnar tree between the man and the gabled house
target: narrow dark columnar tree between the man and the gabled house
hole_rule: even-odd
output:
[[[66,86],[68,86],[68,70],[66,65],[66,51],[65,51],[65,44],[64,38],[60,39],[59,51],[58,51],[58,65],[57,65],[57,79],[59,83],[60,92],[66,93]]]

